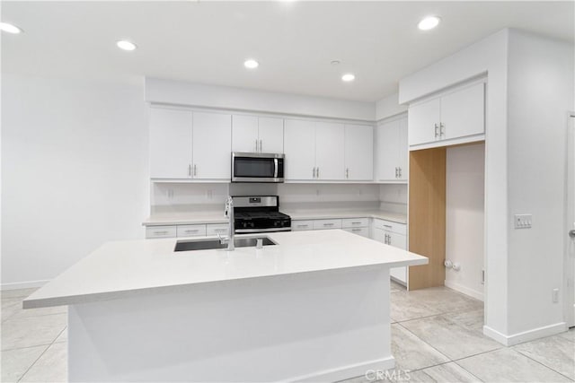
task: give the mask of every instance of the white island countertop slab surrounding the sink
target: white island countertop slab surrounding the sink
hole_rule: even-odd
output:
[[[428,258],[341,231],[267,234],[276,246],[175,253],[178,239],[107,242],[24,300],[24,308],[171,292],[201,283],[349,267],[425,265]],[[238,236],[240,237],[240,236]],[[244,236],[244,237],[253,237]]]

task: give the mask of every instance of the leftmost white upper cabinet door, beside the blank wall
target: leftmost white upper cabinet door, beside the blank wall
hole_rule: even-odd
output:
[[[191,112],[150,109],[150,177],[190,178]]]

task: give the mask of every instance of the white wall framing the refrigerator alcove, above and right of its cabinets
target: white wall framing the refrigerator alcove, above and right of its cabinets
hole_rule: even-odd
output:
[[[485,329],[509,335],[507,75],[509,30],[499,32],[400,81],[399,102],[418,100],[488,74],[485,117]]]

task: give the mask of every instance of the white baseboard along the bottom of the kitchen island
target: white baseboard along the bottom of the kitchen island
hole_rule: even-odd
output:
[[[357,378],[360,376],[366,376],[367,371],[377,371],[390,370],[395,367],[395,358],[389,356],[387,358],[377,359],[375,361],[366,361],[357,364],[349,364],[341,368],[332,370],[320,370],[311,374],[302,375],[299,377],[294,377],[286,379],[286,382],[334,382],[344,379]],[[375,379],[374,379],[375,380]]]

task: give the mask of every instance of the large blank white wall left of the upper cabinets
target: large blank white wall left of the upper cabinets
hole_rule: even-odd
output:
[[[104,241],[143,238],[143,81],[3,74],[2,95],[3,288],[49,280]]]

